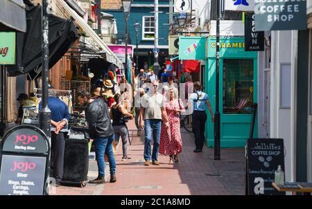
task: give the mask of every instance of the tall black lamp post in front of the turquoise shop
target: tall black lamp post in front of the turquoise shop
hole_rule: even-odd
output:
[[[216,14],[216,111],[214,113],[214,159],[220,160],[219,61],[220,61],[220,0]]]

